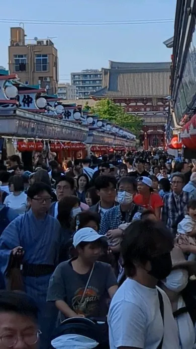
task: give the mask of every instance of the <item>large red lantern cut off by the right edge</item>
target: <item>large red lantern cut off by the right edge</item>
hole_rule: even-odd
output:
[[[182,127],[181,141],[186,148],[196,149],[196,114]]]

